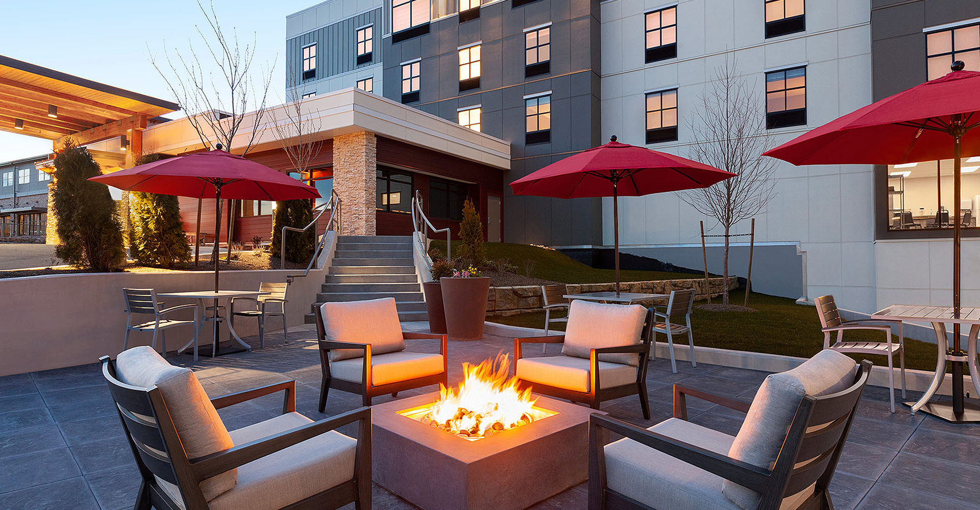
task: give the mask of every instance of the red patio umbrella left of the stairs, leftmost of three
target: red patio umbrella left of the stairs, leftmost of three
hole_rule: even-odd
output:
[[[205,153],[140,164],[124,170],[91,177],[123,191],[140,191],[199,199],[214,198],[217,204],[215,226],[215,292],[218,292],[218,239],[221,233],[221,198],[229,200],[282,201],[316,199],[319,192],[265,164],[246,160],[218,149]],[[230,250],[230,243],[228,245]]]

